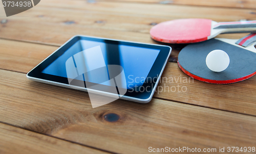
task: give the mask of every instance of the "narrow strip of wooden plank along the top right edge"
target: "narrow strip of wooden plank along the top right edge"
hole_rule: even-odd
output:
[[[254,0],[215,0],[215,1],[205,1],[205,0],[99,0],[105,2],[130,2],[130,3],[154,3],[154,4],[178,4],[178,5],[191,5],[191,6],[207,6],[207,7],[226,7],[226,8],[248,8],[256,9],[256,3]],[[253,12],[252,12],[253,14]]]

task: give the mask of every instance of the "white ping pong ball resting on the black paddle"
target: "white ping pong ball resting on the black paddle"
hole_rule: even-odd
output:
[[[229,56],[223,50],[212,50],[206,57],[207,67],[215,72],[225,70],[229,65]]]

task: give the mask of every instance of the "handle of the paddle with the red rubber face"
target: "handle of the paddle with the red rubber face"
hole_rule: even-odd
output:
[[[243,33],[244,31],[256,31],[256,20],[252,21],[236,21],[236,22],[219,22],[216,25],[214,25],[213,29],[236,29],[235,32]],[[239,30],[238,30],[239,29]],[[232,31],[232,30],[228,30]]]

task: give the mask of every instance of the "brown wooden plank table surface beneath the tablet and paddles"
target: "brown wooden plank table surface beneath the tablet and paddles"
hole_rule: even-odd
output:
[[[0,18],[0,153],[147,153],[148,147],[218,153],[220,147],[255,147],[256,76],[228,85],[188,81],[175,63],[183,44],[169,44],[172,62],[159,84],[183,91],[159,90],[148,104],[119,99],[93,109],[86,92],[26,78],[74,35],[156,44],[149,34],[153,25],[178,18],[256,20],[256,1],[42,0]],[[110,122],[109,113],[119,119]]]

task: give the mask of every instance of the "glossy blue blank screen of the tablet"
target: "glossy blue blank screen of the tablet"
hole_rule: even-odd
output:
[[[99,46],[100,48],[96,48],[90,51],[90,55],[85,55],[82,53],[79,54],[83,50],[97,46]],[[42,73],[67,78],[67,69],[65,66],[67,60],[70,57],[73,57],[77,69],[89,67],[87,69],[92,70],[94,67],[97,67],[97,65],[120,65],[123,67],[124,70],[127,86],[126,88],[131,89],[134,86],[143,85],[159,52],[160,49],[97,42],[90,40],[78,40],[74,45],[68,48],[64,54],[62,54],[48,67],[42,70]],[[103,60],[101,59],[102,56]],[[77,78],[76,80],[86,80],[87,82],[102,84],[102,78],[109,78],[109,75],[108,72],[99,73],[100,74],[97,75],[97,78],[94,78],[94,76],[90,76],[89,74],[89,76],[80,76],[80,78]],[[108,83],[104,84],[108,85]]]

